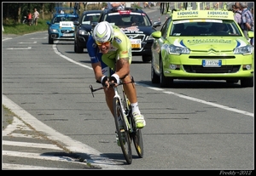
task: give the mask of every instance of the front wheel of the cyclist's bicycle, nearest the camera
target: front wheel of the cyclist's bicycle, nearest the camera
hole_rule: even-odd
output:
[[[119,116],[121,116],[123,124],[125,124],[125,117],[123,114],[122,107],[120,105],[120,101],[118,98],[113,99],[113,111],[114,111],[114,122],[116,127],[116,133],[118,133],[119,136],[119,143],[120,147],[123,151],[123,154],[125,156],[125,161],[128,164],[131,164],[132,162],[132,153],[131,153],[131,138],[129,134],[129,129],[120,129],[119,128]]]

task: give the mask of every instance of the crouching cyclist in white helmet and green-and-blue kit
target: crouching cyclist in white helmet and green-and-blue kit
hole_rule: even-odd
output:
[[[88,54],[95,73],[96,80],[102,82],[109,110],[113,115],[113,88],[108,81],[119,84],[131,82],[131,42],[118,26],[112,26],[107,21],[98,23],[92,31],[87,43]],[[137,91],[134,83],[124,84],[125,94],[131,102],[131,111],[137,128],[146,125],[144,116],[137,104]]]

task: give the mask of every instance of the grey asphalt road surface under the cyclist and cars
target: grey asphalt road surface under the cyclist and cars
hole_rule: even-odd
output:
[[[159,13],[150,16],[165,20]],[[145,156],[138,159],[135,152],[132,164],[125,165],[114,141],[113,121],[109,120],[103,95],[98,92],[93,98],[90,94],[88,85],[98,84],[94,83],[86,50],[74,54],[72,42],[49,45],[47,32],[13,39],[3,42],[3,94],[15,102],[9,107],[20,116],[26,115],[24,121],[62,150],[44,138],[31,138],[35,133],[14,118],[13,137],[5,136],[3,140],[42,143],[48,148],[10,147],[8,143],[3,149],[47,154],[55,161],[3,156],[3,163],[25,160],[44,169],[84,168],[79,163],[60,161],[78,159],[66,155],[66,150],[73,150],[75,154],[89,155],[88,161],[95,165],[103,158],[105,163],[100,165],[108,169],[254,169],[253,88],[214,81],[177,81],[175,88],[160,88],[150,82],[150,64],[134,57],[131,71],[137,82],[140,109],[147,120],[143,128]],[[28,46],[32,49],[18,50]],[[3,102],[6,105],[6,99]],[[56,158],[57,154],[61,157]]]

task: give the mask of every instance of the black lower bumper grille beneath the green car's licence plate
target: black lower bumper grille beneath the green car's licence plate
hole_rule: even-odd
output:
[[[201,65],[183,65],[189,73],[236,73],[241,65],[222,65],[220,67],[203,67]]]

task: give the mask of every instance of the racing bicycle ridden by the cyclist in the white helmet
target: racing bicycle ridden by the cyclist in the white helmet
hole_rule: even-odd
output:
[[[114,111],[114,122],[116,127],[116,133],[119,136],[119,143],[122,149],[122,152],[125,156],[125,161],[128,164],[132,162],[132,152],[131,152],[131,142],[133,140],[133,144],[137,151],[137,155],[140,158],[143,158],[143,135],[140,128],[136,128],[136,124],[134,118],[131,113],[131,103],[127,98],[123,84],[134,82],[133,77],[131,77],[131,82],[120,82],[119,85],[114,86],[113,82],[109,82],[109,85],[114,90],[113,96],[113,111]],[[100,83],[100,82],[98,82]],[[122,87],[122,97],[119,95],[118,86]],[[105,87],[101,88],[92,88],[92,85],[89,86],[92,96],[94,97],[93,92],[97,90],[101,90]],[[119,128],[119,117],[121,119],[123,128]],[[123,141],[125,139],[125,141]]]

